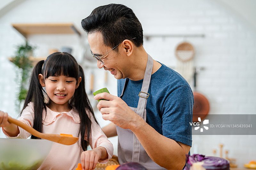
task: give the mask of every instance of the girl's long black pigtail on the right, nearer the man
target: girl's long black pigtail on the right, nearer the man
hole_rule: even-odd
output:
[[[91,135],[91,125],[92,125],[92,121],[86,114],[86,111],[89,111],[91,113],[90,115],[94,118],[96,122],[97,120],[94,116],[92,106],[85,92],[84,71],[81,66],[79,66],[79,76],[82,78],[82,81],[80,82],[78,88],[75,91],[75,94],[73,97],[73,100],[74,100],[73,103],[80,117],[80,134],[82,137],[81,138],[82,149],[86,151],[87,146],[89,145],[89,137]],[[87,134],[87,140],[84,140],[83,138],[84,134]]]

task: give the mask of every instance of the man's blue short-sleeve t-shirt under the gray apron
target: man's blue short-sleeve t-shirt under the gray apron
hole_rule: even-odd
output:
[[[122,99],[128,106],[137,108],[142,80],[128,79]],[[121,96],[125,79],[117,81],[117,94]],[[194,97],[188,82],[169,67],[162,66],[151,75],[148,89],[146,122],[161,135],[176,142],[192,146]]]

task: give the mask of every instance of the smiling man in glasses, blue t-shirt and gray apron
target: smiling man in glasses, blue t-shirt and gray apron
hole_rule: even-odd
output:
[[[118,79],[118,96],[101,93],[97,108],[118,135],[118,159],[148,169],[182,169],[192,145],[193,94],[180,74],[153,60],[143,48],[143,30],[122,4],[95,8],[81,22],[97,66]],[[160,55],[160,54],[159,54]]]

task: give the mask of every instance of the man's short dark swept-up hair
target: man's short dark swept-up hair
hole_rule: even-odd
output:
[[[100,32],[103,43],[111,48],[125,39],[132,39],[135,46],[143,45],[143,30],[131,8],[123,4],[108,4],[95,8],[81,25],[87,34]],[[114,49],[116,52],[118,48]]]

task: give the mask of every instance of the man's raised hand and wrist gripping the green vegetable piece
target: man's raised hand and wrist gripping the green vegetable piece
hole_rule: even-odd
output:
[[[145,122],[143,118],[132,111],[120,97],[104,92],[95,95],[94,99],[106,99],[100,100],[97,105],[97,108],[102,114],[102,118],[113,122],[121,128],[131,129],[136,127],[141,121]]]

